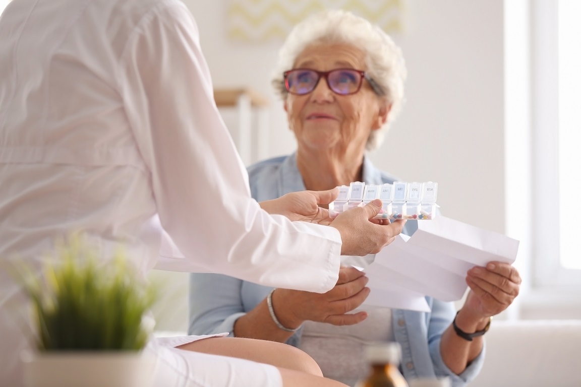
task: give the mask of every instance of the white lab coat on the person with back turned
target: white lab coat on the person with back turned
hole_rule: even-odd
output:
[[[103,259],[122,241],[145,273],[162,227],[185,258],[161,269],[317,292],[338,277],[335,229],[250,197],[180,1],[13,0],[0,17],[0,263],[38,267],[80,229]],[[0,267],[2,386],[20,383],[23,303]]]

